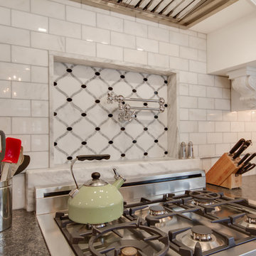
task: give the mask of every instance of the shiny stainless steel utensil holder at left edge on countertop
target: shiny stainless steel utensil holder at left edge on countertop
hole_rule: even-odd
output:
[[[0,232],[11,228],[12,178],[0,182]]]

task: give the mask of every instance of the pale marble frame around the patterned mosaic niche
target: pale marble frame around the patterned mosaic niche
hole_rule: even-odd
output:
[[[156,75],[167,75],[168,80],[173,83],[167,92],[168,103],[168,156],[176,158],[178,156],[178,106],[177,106],[177,70],[170,68],[159,68],[149,65],[142,65],[137,63],[128,63],[119,60],[109,60],[105,58],[89,57],[79,54],[60,53],[56,51],[49,51],[49,85],[54,82],[54,62],[73,63],[79,65],[95,66],[99,68],[113,68],[117,70],[127,70],[133,72],[143,72]],[[54,149],[53,149],[53,91],[49,89],[49,166],[54,167]],[[175,124],[175,125],[171,125]],[[176,146],[174,146],[176,145]]]

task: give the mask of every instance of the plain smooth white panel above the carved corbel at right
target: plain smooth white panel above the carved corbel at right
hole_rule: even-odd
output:
[[[253,8],[253,7],[252,7]],[[256,61],[256,11],[207,35],[208,73]]]

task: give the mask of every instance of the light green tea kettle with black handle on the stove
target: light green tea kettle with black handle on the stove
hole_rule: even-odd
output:
[[[68,198],[68,218],[76,223],[102,224],[119,218],[124,210],[124,199],[118,189],[125,179],[114,171],[116,181],[113,184],[100,179],[98,172],[92,173],[92,180],[85,182],[80,188],[73,174],[75,161],[110,159],[110,155],[76,156],[71,162],[70,170],[76,188],[70,191]]]

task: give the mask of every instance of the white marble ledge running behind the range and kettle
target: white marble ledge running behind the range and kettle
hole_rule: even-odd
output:
[[[167,174],[172,171],[188,169],[201,169],[200,159],[149,159],[130,161],[83,161],[75,163],[73,167],[78,183],[84,183],[91,178],[94,171],[101,174],[101,178],[113,179],[112,168],[116,168],[120,175],[148,176],[154,174]],[[68,164],[48,169],[31,169],[26,171],[26,210],[35,210],[34,191],[37,186],[60,186],[73,184],[73,177]]]

